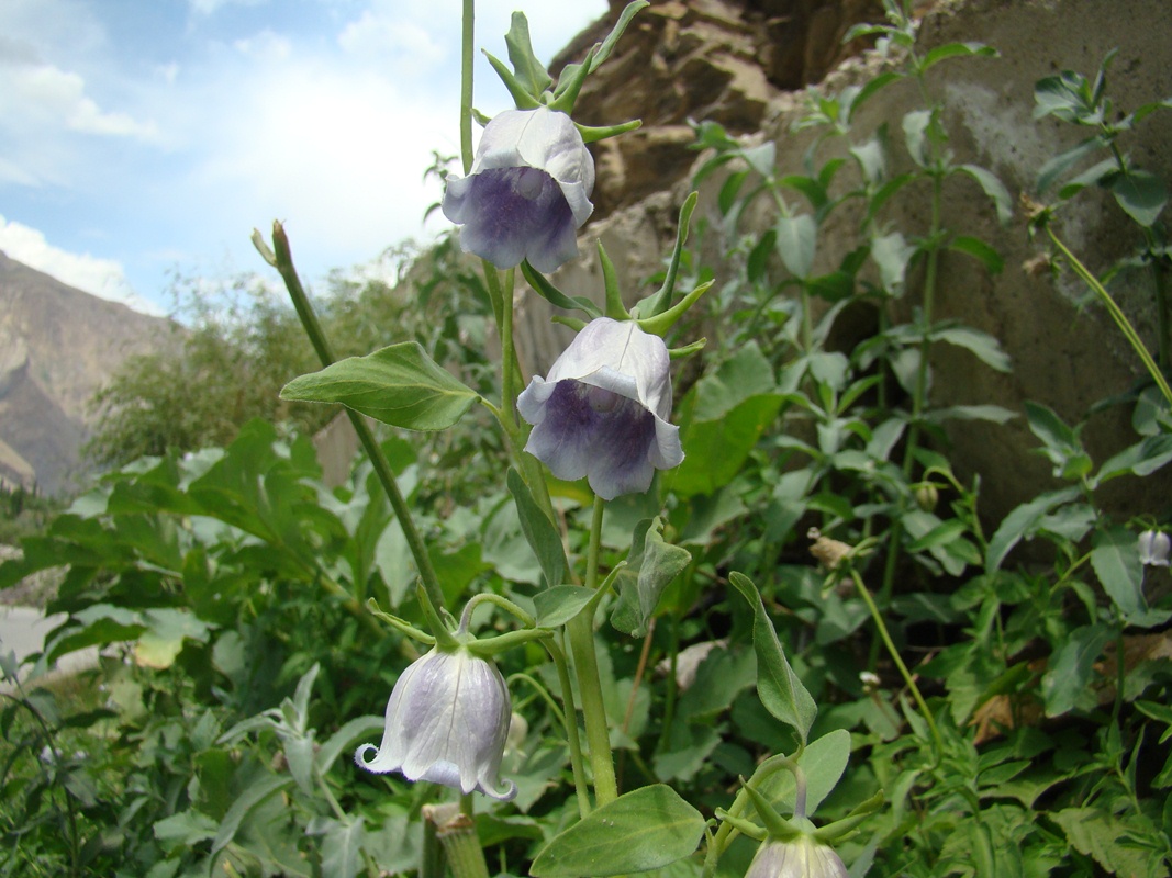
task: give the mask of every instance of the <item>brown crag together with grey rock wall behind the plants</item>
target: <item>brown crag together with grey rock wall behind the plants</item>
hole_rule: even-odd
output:
[[[625,4],[614,0],[606,21],[585,33],[566,54],[581,57],[605,34]],[[874,14],[872,14],[874,13]],[[765,2],[764,0],[697,0],[654,4],[642,11],[620,43],[620,52],[593,76],[579,100],[587,124],[641,117],[645,128],[599,144],[598,213],[584,228],[584,259],[565,266],[556,283],[571,295],[598,297],[601,270],[594,255],[601,240],[620,282],[634,300],[640,283],[661,267],[675,235],[675,217],[690,190],[696,153],[689,149],[688,117],[718,121],[752,140],[772,140],[777,173],[803,167],[803,153],[813,135],[793,132],[802,112],[800,89],[817,82],[850,47],[838,37],[859,18],[881,20],[871,4]],[[1016,199],[1031,194],[1042,164],[1086,137],[1084,129],[1054,119],[1033,118],[1034,83],[1063,69],[1093,76],[1112,48],[1119,48],[1109,77],[1109,94],[1122,111],[1168,96],[1172,69],[1172,5],[1166,0],[1133,0],[1125,15],[1096,0],[956,0],[936,4],[925,15],[918,50],[956,41],[980,41],[1000,52],[996,59],[948,61],[932,70],[932,88],[946,104],[945,123],[958,164],[972,163],[1000,176]],[[850,59],[818,84],[822,92],[861,85],[886,62],[868,54]],[[907,84],[878,92],[858,114],[853,131],[865,139],[886,123],[895,157],[893,173],[908,163],[901,145],[901,119],[919,96]],[[1150,116],[1127,136],[1125,149],[1134,162],[1165,180],[1172,179],[1172,111]],[[833,155],[819,153],[820,162]],[[841,155],[841,152],[839,153]],[[845,174],[839,174],[844,179]],[[699,242],[704,262],[717,274],[728,241],[720,238],[716,193],[723,178],[714,174],[700,187],[694,228],[707,224]],[[844,180],[845,185],[845,180]],[[798,203],[804,203],[798,199]],[[883,221],[906,236],[927,231],[927,198],[892,199]],[[1165,217],[1167,211],[1165,211]],[[1138,358],[1109,316],[1084,308],[1085,288],[1067,274],[1057,279],[1023,266],[1041,252],[1029,240],[1018,210],[1000,226],[977,186],[967,178],[948,183],[943,222],[977,235],[1004,259],[1004,270],[989,276],[968,256],[945,254],[940,265],[935,318],[956,318],[996,336],[1011,356],[1010,375],[993,372],[970,355],[949,345],[933,352],[933,400],[936,405],[993,403],[1021,413],[1024,400],[1055,409],[1069,423],[1086,417],[1090,406],[1120,393],[1143,375]],[[763,233],[772,217],[750,219],[742,232]],[[818,266],[837,267],[858,245],[853,219],[818,241]],[[754,225],[756,224],[756,225]],[[1137,229],[1115,203],[1088,192],[1063,208],[1056,226],[1092,270],[1104,272],[1136,243]],[[695,242],[695,239],[694,239]],[[914,281],[913,281],[914,282]],[[1143,279],[1126,280],[1116,290],[1130,320],[1154,349],[1154,303]],[[531,343],[522,356],[540,372],[565,343],[561,327],[550,327],[550,309],[536,296],[523,296],[518,343]],[[917,301],[911,289],[907,308]],[[899,320],[906,314],[897,314]],[[866,321],[858,331],[867,331]],[[1083,434],[1097,462],[1136,441],[1129,410],[1117,407],[1090,419]],[[1034,450],[1037,440],[1024,418],[1004,426],[966,423],[950,432],[953,459],[963,473],[982,474],[982,508],[1000,519],[1015,505],[1056,486],[1050,467]],[[1170,479],[1120,479],[1102,498],[1117,514],[1157,513],[1166,506]]]

